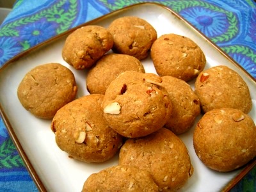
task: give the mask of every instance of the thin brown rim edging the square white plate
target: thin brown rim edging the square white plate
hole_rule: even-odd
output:
[[[174,12],[172,10],[172,8],[169,8],[168,6],[165,6],[164,4],[160,4],[160,3],[154,3],[154,2],[143,2],[143,3],[136,3],[136,4],[131,4],[129,6],[125,6],[124,8],[121,8],[119,10],[115,10],[113,12],[109,12],[105,15],[102,15],[100,17],[97,17],[93,20],[89,20],[88,22],[84,22],[83,24],[79,24],[78,26],[68,29],[67,31],[56,35],[56,36],[52,36],[51,38],[49,38],[48,40],[45,40],[44,42],[41,42],[40,44],[35,45],[34,47],[31,47],[29,49],[27,49],[26,51],[22,51],[19,54],[17,54],[16,56],[14,56],[13,58],[11,58],[10,60],[6,61],[6,63],[4,63],[1,67],[0,67],[0,74],[1,71],[4,70],[4,68],[8,67],[10,64],[12,64],[14,61],[19,60],[20,58],[22,58],[23,56],[26,56],[27,54],[29,54],[30,52],[34,52],[37,49],[40,49],[40,47],[44,47],[45,45],[51,44],[52,41],[54,40],[58,40],[63,36],[66,36],[70,33],[72,33],[72,31],[75,31],[77,28],[81,28],[82,26],[88,26],[94,22],[98,22],[100,20],[104,20],[108,17],[111,17],[112,15],[117,14],[118,12],[124,12],[125,10],[129,10],[132,9],[136,6],[144,6],[144,5],[151,5],[151,6],[159,6],[165,10],[168,10],[168,12],[170,12],[172,15],[175,15],[175,17],[177,17],[177,19],[182,20],[182,22],[185,22],[189,27],[191,27],[191,29],[195,30],[196,33],[199,33],[202,37],[205,38],[205,40],[207,40],[207,42],[209,42],[209,44],[211,44],[218,52],[221,53],[222,56],[224,56],[225,58],[227,58],[233,65],[235,65],[237,68],[239,68],[239,70],[241,70],[242,72],[244,72],[244,74],[246,76],[248,76],[248,79],[250,79],[250,81],[253,81],[253,83],[256,83],[256,79],[249,73],[247,72],[243,67],[241,67],[241,65],[239,65],[239,63],[237,63],[233,58],[231,58],[231,56],[229,56],[227,54],[227,52],[223,51],[218,45],[216,45],[214,42],[212,42],[212,40],[210,38],[208,38],[207,36],[204,35],[204,33],[202,33],[201,31],[199,31],[198,29],[195,28],[195,26],[193,26],[190,22],[188,22],[188,20],[184,19],[184,17],[182,17],[181,15],[179,15],[179,13]],[[20,157],[22,158],[22,160],[24,161],[24,164],[29,172],[29,175],[31,176],[31,179],[33,179],[33,181],[35,182],[36,187],[38,188],[38,191],[47,191],[42,180],[40,179],[38,173],[36,173],[35,168],[33,167],[33,164],[31,163],[31,161],[29,160],[26,152],[24,151],[22,145],[20,144],[19,139],[17,138],[17,135],[15,134],[15,131],[13,130],[12,125],[10,124],[10,120],[8,120],[8,117],[6,115],[6,113],[4,112],[4,109],[1,105],[0,102],[0,115],[3,119],[4,125],[6,125],[6,129],[8,131],[8,134],[10,135],[10,138],[13,141],[13,144],[15,145],[15,147],[17,148],[17,151],[19,152]],[[256,166],[256,157],[254,159],[252,159],[249,163],[246,164],[246,166],[244,166],[243,170],[241,172],[238,173],[238,175],[236,177],[234,177],[234,179],[230,180],[230,182],[228,182],[227,186],[225,186],[221,191],[230,191],[230,189],[234,188],[234,186],[236,186],[236,184],[243,179],[243,177],[250,172],[250,170],[252,170],[252,168]]]

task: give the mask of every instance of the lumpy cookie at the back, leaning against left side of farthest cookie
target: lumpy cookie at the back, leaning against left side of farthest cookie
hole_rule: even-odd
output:
[[[113,47],[113,37],[101,26],[83,26],[68,35],[62,57],[77,70],[90,68]]]

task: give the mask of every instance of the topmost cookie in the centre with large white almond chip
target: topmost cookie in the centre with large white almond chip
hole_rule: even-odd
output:
[[[109,126],[127,138],[157,131],[172,113],[168,93],[161,77],[126,71],[110,84],[102,107]]]

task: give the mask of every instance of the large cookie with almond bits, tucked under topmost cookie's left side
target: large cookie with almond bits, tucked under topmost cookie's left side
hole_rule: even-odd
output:
[[[63,106],[54,116],[51,129],[61,150],[79,161],[100,163],[113,157],[122,136],[109,127],[101,108],[103,95],[80,97]]]

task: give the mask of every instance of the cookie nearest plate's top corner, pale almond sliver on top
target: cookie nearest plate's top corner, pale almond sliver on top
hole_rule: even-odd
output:
[[[129,54],[138,60],[148,56],[150,47],[157,39],[157,32],[147,20],[134,16],[120,17],[108,27],[113,35],[113,51]]]

